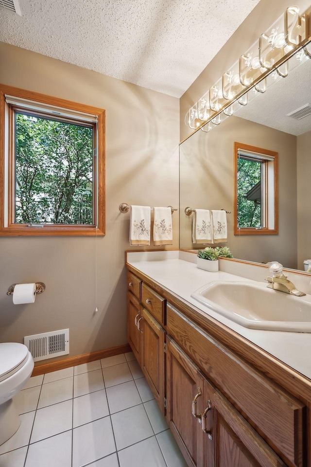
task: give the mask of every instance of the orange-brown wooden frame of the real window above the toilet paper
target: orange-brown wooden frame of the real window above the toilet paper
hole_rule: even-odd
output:
[[[39,102],[42,104],[67,108],[77,112],[97,116],[97,180],[93,183],[94,219],[97,225],[68,225],[68,224],[44,224],[43,227],[29,227],[27,224],[14,223],[15,207],[13,193],[15,190],[15,135],[14,115],[17,106],[8,105],[5,94]],[[25,108],[19,111],[27,112]],[[29,110],[29,113],[39,115],[39,111]],[[47,114],[45,114],[47,115]],[[50,115],[56,120],[55,115]],[[104,235],[105,234],[105,110],[71,102],[57,97],[39,94],[37,92],[0,85],[0,236],[16,235]],[[76,122],[75,122],[76,123]],[[7,168],[6,168],[7,164]],[[8,176],[6,175],[8,174]],[[95,200],[96,199],[96,200]]]

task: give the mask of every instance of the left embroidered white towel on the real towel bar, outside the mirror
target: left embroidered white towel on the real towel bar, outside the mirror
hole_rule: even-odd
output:
[[[130,245],[150,245],[150,206],[131,206]]]

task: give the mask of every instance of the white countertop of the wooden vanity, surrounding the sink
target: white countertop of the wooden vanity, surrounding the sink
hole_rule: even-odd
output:
[[[261,349],[311,379],[311,333],[264,331],[245,328],[190,296],[193,291],[211,281],[245,282],[245,278],[247,278],[249,282],[249,280],[254,279],[254,276],[258,276],[258,267],[256,270],[254,269],[254,274],[251,274],[253,277],[250,277],[249,274],[246,275],[247,272],[245,272],[249,271],[249,268],[252,268],[252,266],[247,265],[244,271],[245,275],[242,276],[241,265],[238,263],[236,269],[241,275],[224,271],[207,272],[197,268],[196,255],[184,251],[129,252],[127,253],[127,262],[161,286],[171,290],[184,300],[187,300],[191,305],[196,306],[207,315],[225,324],[244,338],[258,345]],[[225,267],[226,265],[223,266],[223,268]],[[234,267],[234,264],[230,265],[231,269],[232,267]],[[261,276],[263,277],[266,271],[265,269],[261,269],[259,272],[261,272]],[[256,277],[256,280],[261,279]]]

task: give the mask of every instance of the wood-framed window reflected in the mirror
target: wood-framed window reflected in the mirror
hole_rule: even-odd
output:
[[[234,144],[234,234],[277,234],[277,153]]]

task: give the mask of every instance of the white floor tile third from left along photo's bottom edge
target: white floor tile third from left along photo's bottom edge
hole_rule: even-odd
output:
[[[115,452],[110,417],[75,428],[72,449],[72,467],[84,466]]]

